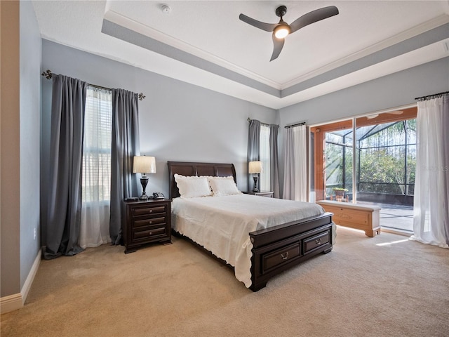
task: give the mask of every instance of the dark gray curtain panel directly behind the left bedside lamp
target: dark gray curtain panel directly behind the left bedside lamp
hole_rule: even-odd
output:
[[[112,89],[111,218],[112,244],[121,241],[121,204],[124,198],[138,196],[133,157],[140,154],[138,94]]]

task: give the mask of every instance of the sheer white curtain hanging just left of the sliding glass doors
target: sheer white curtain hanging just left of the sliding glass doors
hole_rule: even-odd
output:
[[[305,125],[286,128],[283,199],[307,201],[307,132]]]

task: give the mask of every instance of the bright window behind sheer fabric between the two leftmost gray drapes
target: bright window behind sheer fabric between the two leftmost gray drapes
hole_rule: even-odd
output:
[[[83,140],[83,203],[109,201],[112,92],[88,86]]]

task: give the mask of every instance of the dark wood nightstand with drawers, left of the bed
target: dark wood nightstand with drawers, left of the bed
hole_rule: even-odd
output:
[[[171,244],[170,200],[123,201],[121,232],[125,253],[150,242]]]

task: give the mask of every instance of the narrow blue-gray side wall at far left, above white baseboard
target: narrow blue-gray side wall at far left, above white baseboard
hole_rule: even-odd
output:
[[[20,1],[20,288],[40,250],[42,39],[31,1]]]

